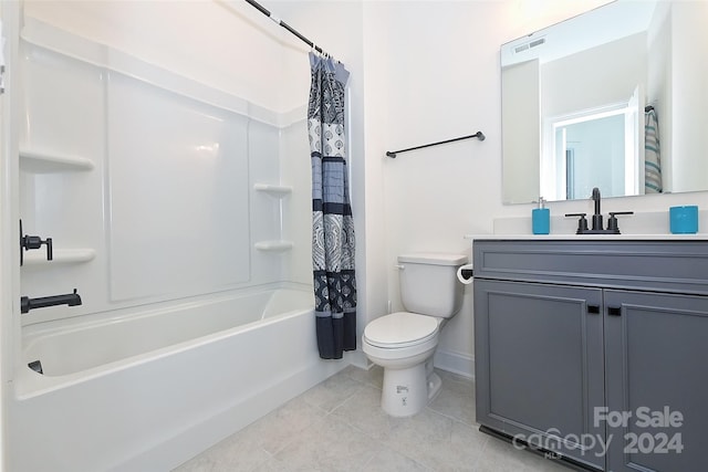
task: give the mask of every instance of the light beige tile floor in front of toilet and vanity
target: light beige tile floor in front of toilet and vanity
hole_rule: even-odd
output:
[[[438,374],[438,397],[402,419],[381,410],[383,370],[350,366],[175,472],[570,470],[479,432],[473,382]]]

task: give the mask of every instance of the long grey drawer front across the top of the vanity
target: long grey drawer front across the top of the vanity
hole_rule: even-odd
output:
[[[475,277],[708,294],[707,241],[475,240]]]

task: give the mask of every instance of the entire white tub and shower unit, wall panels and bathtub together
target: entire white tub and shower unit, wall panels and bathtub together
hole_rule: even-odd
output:
[[[304,106],[23,20],[12,214],[58,260],[12,270],[83,305],[7,314],[9,470],[168,470],[346,365],[314,337]]]

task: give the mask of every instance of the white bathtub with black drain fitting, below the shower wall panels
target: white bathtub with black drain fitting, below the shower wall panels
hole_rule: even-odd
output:
[[[344,367],[290,289],[37,331],[22,357],[9,470],[38,472],[170,470]]]

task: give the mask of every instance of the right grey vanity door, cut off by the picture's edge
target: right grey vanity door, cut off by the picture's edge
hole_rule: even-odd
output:
[[[605,291],[608,470],[708,471],[708,297]]]

